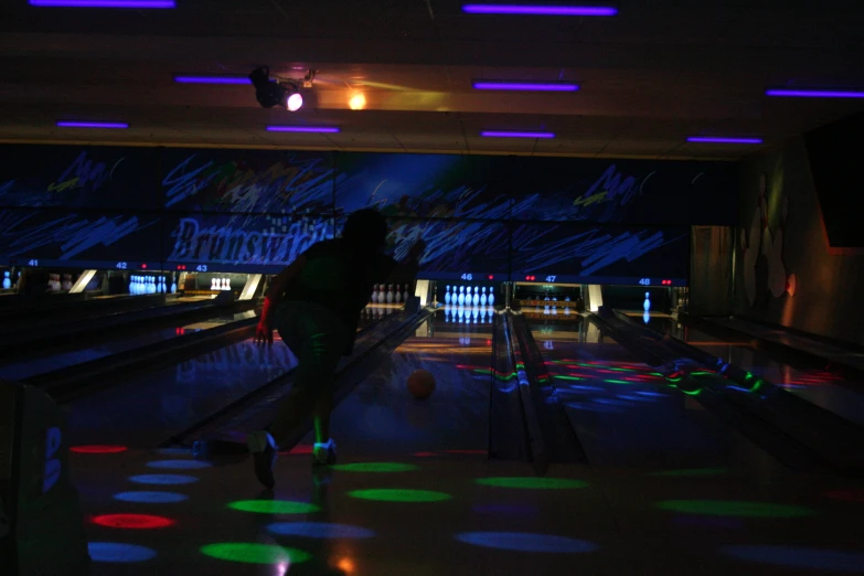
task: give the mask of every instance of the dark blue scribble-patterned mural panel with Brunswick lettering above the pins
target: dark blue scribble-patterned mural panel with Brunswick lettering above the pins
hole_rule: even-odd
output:
[[[276,271],[374,206],[393,255],[427,242],[427,275],[686,278],[690,225],[737,218],[734,174],[716,162],[3,146],[0,264]]]

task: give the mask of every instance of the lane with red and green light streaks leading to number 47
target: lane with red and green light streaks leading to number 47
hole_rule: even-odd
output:
[[[554,324],[542,318],[530,320],[532,333],[588,463],[782,468],[705,410],[697,391],[679,390],[587,318]]]

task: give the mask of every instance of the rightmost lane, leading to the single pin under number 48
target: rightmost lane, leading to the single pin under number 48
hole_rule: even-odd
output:
[[[628,314],[629,316],[629,314]],[[636,317],[642,321],[642,316]],[[650,314],[649,328],[678,338],[708,354],[781,386],[858,426],[864,426],[864,383],[824,370],[792,365],[777,354],[754,346],[749,339],[724,338],[679,322],[668,314]]]

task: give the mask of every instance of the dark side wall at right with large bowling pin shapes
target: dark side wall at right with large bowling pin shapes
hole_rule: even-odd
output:
[[[864,344],[864,249],[830,246],[804,140],[745,162],[743,180],[735,313]]]

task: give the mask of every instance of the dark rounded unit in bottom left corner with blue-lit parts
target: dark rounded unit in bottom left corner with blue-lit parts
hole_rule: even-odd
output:
[[[65,416],[42,391],[0,380],[0,573],[90,573]]]

